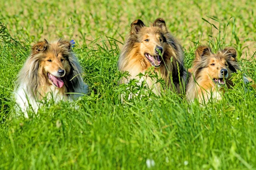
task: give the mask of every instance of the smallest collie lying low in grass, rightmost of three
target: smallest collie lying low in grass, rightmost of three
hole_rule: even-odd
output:
[[[200,103],[209,99],[221,99],[224,85],[233,86],[230,77],[240,70],[236,60],[236,49],[224,48],[216,54],[208,46],[199,46],[195,51],[191,77],[186,88],[186,97],[191,102],[198,98]],[[244,82],[248,79],[244,77]]]

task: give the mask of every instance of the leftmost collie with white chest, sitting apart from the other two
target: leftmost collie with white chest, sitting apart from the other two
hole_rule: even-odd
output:
[[[40,41],[32,47],[17,77],[15,99],[20,110],[37,112],[40,100],[76,99],[88,93],[88,86],[81,77],[82,69],[66,40],[52,43]]]

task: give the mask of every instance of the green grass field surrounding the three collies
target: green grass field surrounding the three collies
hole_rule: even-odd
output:
[[[0,6],[0,169],[256,169],[255,2],[4,1]],[[129,25],[163,17],[183,45],[189,68],[198,44],[234,46],[242,73],[220,102],[200,107],[170,91],[154,96],[131,82],[119,86],[120,48]],[[204,18],[204,19],[202,19]],[[30,45],[75,40],[91,94],[48,101],[34,118],[17,118],[12,91]],[[126,90],[128,88],[128,90]],[[124,91],[147,94],[124,104]],[[50,107],[47,105],[50,104]],[[148,168],[146,161],[154,160]]]

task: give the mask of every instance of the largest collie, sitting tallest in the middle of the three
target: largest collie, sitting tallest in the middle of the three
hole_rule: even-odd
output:
[[[154,78],[137,76],[153,66],[158,77],[165,80],[164,88],[180,93],[186,82],[183,59],[181,45],[169,33],[162,18],[157,18],[150,27],[146,27],[141,20],[135,20],[131,23],[130,34],[118,60],[119,71],[128,71],[130,77],[122,78],[119,83],[128,83],[131,79],[145,81],[159,95],[160,83],[155,83]]]

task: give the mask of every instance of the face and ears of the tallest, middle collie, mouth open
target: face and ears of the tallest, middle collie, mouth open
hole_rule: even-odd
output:
[[[141,56],[145,56],[156,68],[163,64],[162,56],[167,45],[165,31],[167,31],[165,21],[160,18],[155,20],[151,27],[146,27],[141,20],[131,23],[131,34],[137,37]]]

